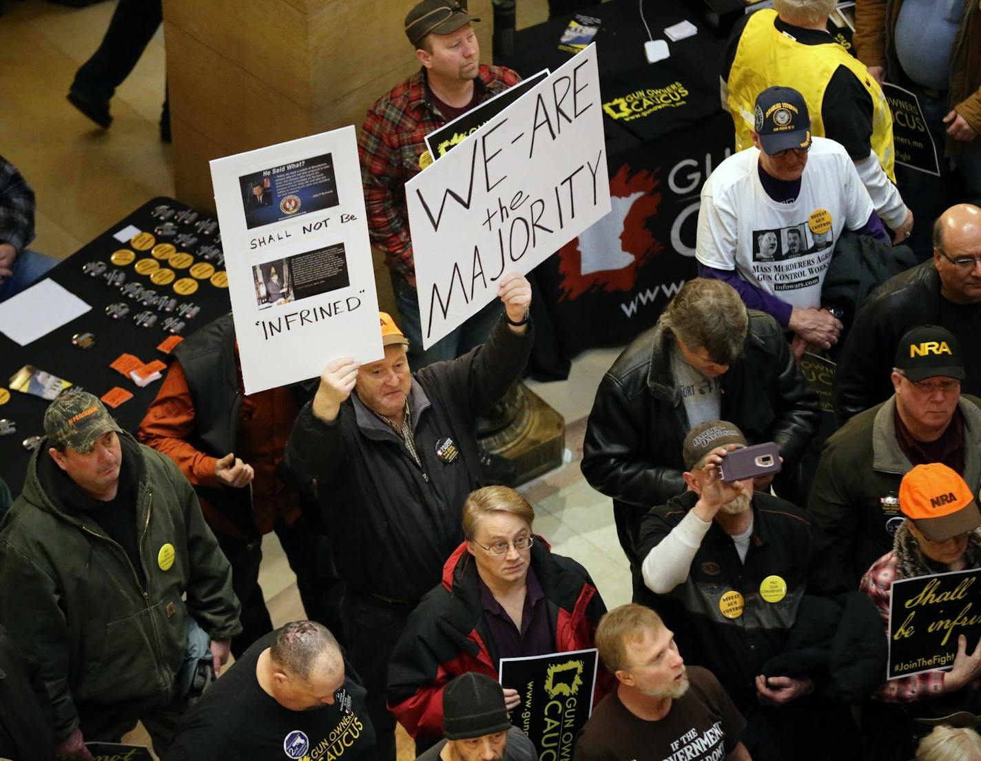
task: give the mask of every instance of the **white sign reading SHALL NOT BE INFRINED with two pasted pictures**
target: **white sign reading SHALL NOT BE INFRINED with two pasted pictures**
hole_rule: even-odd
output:
[[[245,393],[385,356],[354,127],[211,162]]]

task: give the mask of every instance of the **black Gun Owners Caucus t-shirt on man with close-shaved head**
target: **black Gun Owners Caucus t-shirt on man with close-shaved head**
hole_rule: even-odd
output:
[[[365,689],[345,661],[333,705],[284,708],[255,676],[276,633],[258,639],[184,715],[164,761],[352,761],[370,757],[375,730],[364,711]]]

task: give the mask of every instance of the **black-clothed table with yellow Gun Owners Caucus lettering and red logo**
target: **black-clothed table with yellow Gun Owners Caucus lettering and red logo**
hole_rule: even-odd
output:
[[[569,358],[586,348],[623,344],[649,328],[695,277],[698,193],[732,151],[732,119],[719,98],[724,41],[678,0],[646,0],[643,8],[655,38],[685,20],[698,32],[668,42],[670,58],[648,64],[636,0],[581,11],[602,22],[594,42],[612,212],[533,275],[532,373],[542,380],[564,378]],[[571,18],[517,32],[513,51],[494,62],[522,76],[554,71],[572,55],[558,47]]]

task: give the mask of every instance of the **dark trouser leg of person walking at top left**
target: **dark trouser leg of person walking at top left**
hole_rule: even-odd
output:
[[[161,0],[120,0],[102,44],[78,70],[72,91],[108,101],[132,72],[163,21]]]

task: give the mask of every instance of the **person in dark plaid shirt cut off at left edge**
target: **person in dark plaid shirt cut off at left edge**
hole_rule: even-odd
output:
[[[34,239],[34,191],[0,156],[0,301],[40,279],[58,262],[27,250]]]

